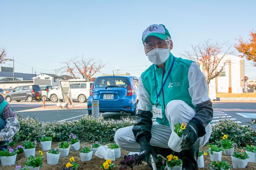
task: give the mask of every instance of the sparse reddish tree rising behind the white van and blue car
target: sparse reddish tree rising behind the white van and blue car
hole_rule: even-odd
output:
[[[91,79],[101,68],[105,66],[100,60],[95,58],[71,58],[67,62],[62,62],[65,66],[63,72],[68,72],[77,79],[82,76],[83,79]]]

